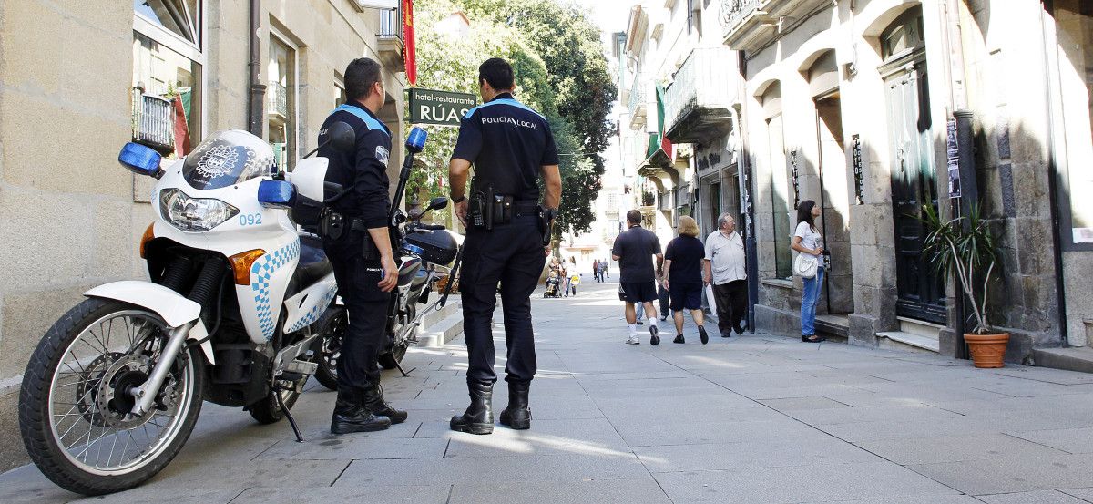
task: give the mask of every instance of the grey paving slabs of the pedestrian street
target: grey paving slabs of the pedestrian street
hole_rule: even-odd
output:
[[[312,384],[287,423],[207,403],[181,454],[111,503],[1081,503],[1093,502],[1093,375],[768,335],[627,345],[615,284],[534,300],[530,431],[453,433],[467,406],[462,340],[386,373],[410,420],[328,432]],[[713,324],[707,324],[713,329]],[[504,335],[495,341],[504,355]],[[710,330],[716,333],[716,330]],[[498,359],[498,374],[504,368]],[[495,411],[507,402],[496,389]],[[85,502],[26,466],[0,502]]]

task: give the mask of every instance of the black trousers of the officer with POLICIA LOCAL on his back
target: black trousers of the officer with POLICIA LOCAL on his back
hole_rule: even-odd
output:
[[[536,375],[536,342],[531,330],[531,293],[539,284],[546,256],[536,216],[514,216],[492,231],[471,228],[463,242],[459,290],[463,302],[467,379],[497,380],[493,371],[493,307],[501,282],[508,363],[506,382],[530,382]]]

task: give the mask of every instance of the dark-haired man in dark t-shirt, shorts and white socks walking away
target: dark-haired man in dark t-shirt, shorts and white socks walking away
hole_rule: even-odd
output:
[[[611,257],[619,261],[619,282],[626,297],[626,324],[630,326],[627,344],[638,344],[637,310],[635,303],[645,307],[645,317],[649,324],[649,344],[659,344],[657,336],[657,308],[653,302],[657,298],[657,277],[665,263],[665,255],[660,253],[660,239],[649,230],[642,228],[642,212],[626,212],[626,232],[620,234],[611,247]],[[653,268],[653,256],[657,257],[657,268]]]

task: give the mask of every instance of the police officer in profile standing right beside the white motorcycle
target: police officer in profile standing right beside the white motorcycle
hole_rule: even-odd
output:
[[[356,132],[352,152],[333,146],[319,150],[320,156],[330,160],[326,181],[342,188],[338,192],[327,189],[320,220],[322,247],[349,310],[338,359],[338,400],[330,419],[334,434],[380,431],[407,419],[406,411],[384,400],[376,362],[385,342],[390,291],[398,283],[388,231],[391,132],[376,117],[386,96],[380,70],[379,63],[368,58],[349,63],[349,99],[330,114],[319,132],[320,144],[326,141],[327,127],[337,121],[349,124]]]

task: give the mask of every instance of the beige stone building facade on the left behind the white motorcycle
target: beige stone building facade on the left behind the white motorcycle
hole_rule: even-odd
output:
[[[247,128],[252,5],[266,86],[260,128],[282,164],[314,148],[344,101],[341,72],[361,56],[385,66],[381,116],[403,134],[396,11],[355,0],[94,3],[0,0],[0,470],[26,460],[19,383],[43,333],[89,288],[145,277],[136,244],[153,219],[151,185],[121,168],[117,153],[139,134],[183,149],[185,134],[139,119],[153,121],[172,103],[164,96],[177,95],[183,112],[168,126],[185,116],[191,145]]]

